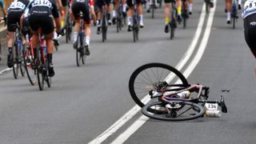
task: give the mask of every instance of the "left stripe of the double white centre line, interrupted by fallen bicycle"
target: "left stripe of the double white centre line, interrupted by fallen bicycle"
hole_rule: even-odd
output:
[[[198,43],[198,38],[200,34],[202,33],[202,26],[205,20],[206,16],[206,10],[205,10],[205,5],[202,6],[202,12],[200,14],[197,30],[194,34],[194,37],[192,39],[192,42],[190,43],[190,46],[186,53],[182,56],[182,59],[180,62],[178,62],[178,65],[175,66],[178,70],[181,70],[182,67],[186,64],[188,59],[191,57],[195,46]],[[170,77],[168,78],[170,79]],[[106,140],[106,138],[109,138],[110,135],[114,134],[119,128],[121,128],[126,122],[130,120],[130,118],[133,118],[135,114],[138,113],[138,111],[141,110],[141,107],[138,105],[134,106],[132,109],[130,109],[126,114],[122,116],[122,118],[119,118],[117,122],[114,122],[112,126],[110,126],[107,130],[105,130],[102,134],[98,135],[97,138],[94,138],[92,141],[89,142],[89,144],[94,144],[94,143],[101,143]]]

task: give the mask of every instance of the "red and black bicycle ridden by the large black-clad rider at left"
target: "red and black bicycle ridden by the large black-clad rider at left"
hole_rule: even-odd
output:
[[[36,70],[38,75],[38,86],[39,90],[44,89],[44,82],[46,81],[47,86],[51,86],[51,77],[49,76],[49,62],[47,60],[47,48],[46,48],[46,40],[44,36],[41,34],[42,30],[39,28],[38,30],[38,38],[39,44],[36,51]]]

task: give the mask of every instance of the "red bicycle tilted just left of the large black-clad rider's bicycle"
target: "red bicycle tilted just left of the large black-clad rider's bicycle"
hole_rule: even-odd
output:
[[[27,78],[29,79],[30,84],[34,86],[38,82],[36,63],[35,63],[36,58],[34,57],[34,49],[32,47],[32,42],[30,38],[31,36],[30,30],[28,27],[24,27],[23,31],[26,34],[25,35],[26,42],[29,42],[28,45],[23,45],[24,48],[22,50],[22,53],[23,53],[24,66],[26,69]]]

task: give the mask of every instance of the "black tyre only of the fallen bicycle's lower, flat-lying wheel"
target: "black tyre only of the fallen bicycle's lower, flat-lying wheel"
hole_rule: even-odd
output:
[[[182,104],[197,107],[199,110],[198,114],[194,114],[194,115],[191,114],[190,117],[186,117],[186,118],[172,118],[172,117],[163,117],[161,114],[152,113],[152,111],[150,111],[150,110],[152,110],[150,108],[151,106],[156,106],[156,105],[160,106],[160,105],[162,105],[162,102],[152,102],[152,103],[146,104],[146,106],[142,107],[142,114],[146,115],[149,118],[162,120],[162,121],[188,121],[188,120],[192,120],[195,118],[201,118],[202,115],[205,114],[205,109],[201,105],[198,105],[197,103],[182,102]],[[166,114],[166,113],[163,113],[163,114]]]

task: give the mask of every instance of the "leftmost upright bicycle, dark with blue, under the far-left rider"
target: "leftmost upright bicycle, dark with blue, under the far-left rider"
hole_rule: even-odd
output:
[[[12,24],[11,27],[15,28],[15,37],[14,37],[14,50],[12,51],[13,55],[13,72],[14,78],[18,78],[18,71],[21,71],[22,77],[25,75],[25,65],[23,60],[22,53],[22,34],[20,33],[20,27],[18,24]]]

